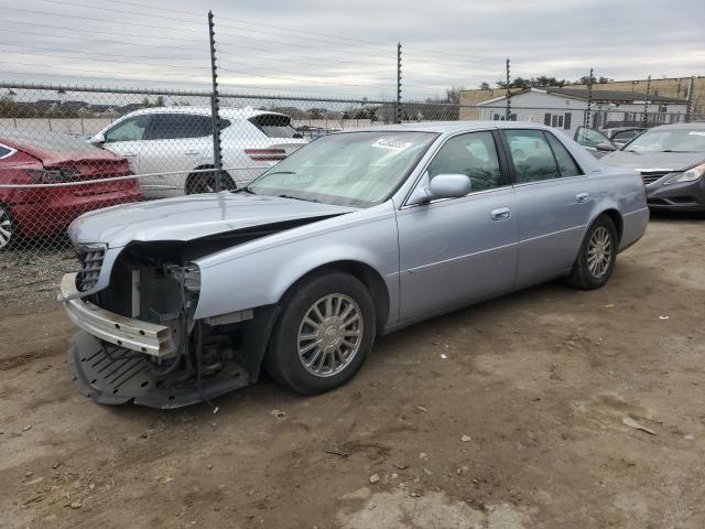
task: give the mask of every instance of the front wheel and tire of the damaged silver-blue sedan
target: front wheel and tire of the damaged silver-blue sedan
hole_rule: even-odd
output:
[[[375,304],[365,284],[343,272],[314,277],[285,296],[265,368],[302,395],[328,391],[355,376],[375,335]]]

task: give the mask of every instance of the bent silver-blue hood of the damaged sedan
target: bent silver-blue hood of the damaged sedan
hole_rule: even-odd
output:
[[[327,217],[355,208],[243,193],[213,193],[122,204],[86,213],[72,223],[75,244],[193,240],[272,223]]]

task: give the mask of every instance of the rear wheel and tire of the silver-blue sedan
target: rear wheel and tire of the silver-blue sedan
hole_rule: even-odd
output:
[[[609,280],[617,260],[617,229],[600,215],[587,229],[567,282],[583,290],[599,289]]]

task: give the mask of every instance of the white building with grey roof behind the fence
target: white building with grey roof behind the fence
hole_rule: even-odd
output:
[[[647,101],[648,98],[648,101]],[[584,88],[541,87],[513,93],[510,100],[511,120],[544,123],[573,134],[587,120],[588,90]],[[589,125],[609,127],[639,126],[644,101],[649,125],[683,121],[687,101],[655,94],[636,91],[593,90]],[[503,120],[507,97],[496,97],[477,104],[480,119]]]

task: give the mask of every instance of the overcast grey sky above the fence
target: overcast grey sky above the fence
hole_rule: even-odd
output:
[[[702,0],[0,0],[0,79],[391,98],[503,77],[705,74]]]

